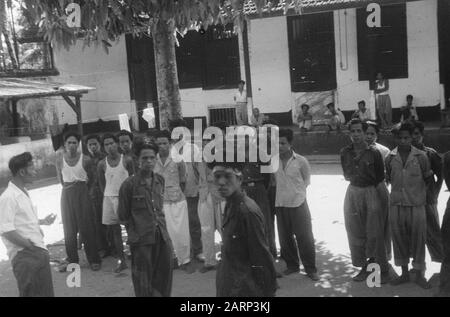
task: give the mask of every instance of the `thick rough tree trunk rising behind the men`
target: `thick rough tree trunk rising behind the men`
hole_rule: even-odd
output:
[[[160,126],[165,130],[170,120],[182,118],[173,23],[159,20],[153,29],[153,47]]]

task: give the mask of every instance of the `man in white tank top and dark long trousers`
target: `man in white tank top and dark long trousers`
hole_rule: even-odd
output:
[[[77,234],[83,237],[84,250],[93,271],[100,270],[101,259],[95,237],[94,207],[89,196],[88,182],[92,182],[95,166],[92,160],[78,151],[81,137],[75,132],[64,136],[65,152],[56,160],[58,179],[63,185],[61,216],[64,228],[67,261],[60,267],[67,270],[69,263],[78,263]]]

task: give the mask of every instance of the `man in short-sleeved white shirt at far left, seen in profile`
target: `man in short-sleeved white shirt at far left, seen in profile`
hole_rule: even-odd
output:
[[[20,297],[54,297],[50,256],[41,225],[51,225],[55,215],[39,220],[25,186],[36,176],[33,157],[23,153],[9,161],[13,175],[0,196],[0,235],[17,280]]]

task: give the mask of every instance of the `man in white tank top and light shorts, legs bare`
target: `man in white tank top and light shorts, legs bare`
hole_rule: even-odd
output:
[[[119,140],[112,134],[103,136],[106,158],[98,164],[98,180],[103,193],[102,223],[107,226],[117,253],[115,273],[127,268],[123,252],[122,228],[117,209],[119,208],[119,190],[122,183],[133,173],[133,161],[129,156],[119,153]]]

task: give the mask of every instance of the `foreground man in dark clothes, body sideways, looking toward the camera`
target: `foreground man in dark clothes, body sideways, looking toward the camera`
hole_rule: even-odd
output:
[[[277,288],[274,260],[267,245],[264,216],[242,192],[242,165],[211,164],[219,194],[227,201],[223,219],[218,297],[271,297]]]

